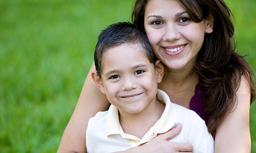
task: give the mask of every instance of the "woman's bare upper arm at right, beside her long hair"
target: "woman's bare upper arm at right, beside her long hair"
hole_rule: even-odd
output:
[[[237,91],[237,105],[216,131],[215,151],[251,152],[250,138],[250,85],[242,76]]]

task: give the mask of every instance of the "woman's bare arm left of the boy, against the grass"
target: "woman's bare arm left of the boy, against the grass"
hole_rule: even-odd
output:
[[[86,152],[85,132],[89,118],[109,108],[106,96],[101,94],[90,76],[92,71],[95,71],[94,63],[85,79],[75,111],[65,128],[57,152]]]

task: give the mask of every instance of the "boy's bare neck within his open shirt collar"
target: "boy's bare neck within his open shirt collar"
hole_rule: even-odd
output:
[[[119,122],[126,134],[134,135],[140,139],[162,116],[165,104],[154,100],[148,108],[138,114],[127,114],[119,111]]]

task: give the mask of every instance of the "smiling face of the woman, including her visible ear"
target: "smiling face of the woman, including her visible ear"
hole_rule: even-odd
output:
[[[171,70],[193,66],[205,32],[212,32],[210,21],[193,22],[175,0],[149,1],[144,28],[156,56]]]

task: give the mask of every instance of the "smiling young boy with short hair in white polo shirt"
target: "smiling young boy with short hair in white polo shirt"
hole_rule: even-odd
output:
[[[131,23],[116,23],[98,37],[92,78],[110,105],[90,118],[88,152],[115,152],[143,145],[177,122],[183,125],[173,142],[189,142],[193,152],[213,152],[213,138],[193,111],[171,103],[158,90],[164,68],[156,61],[144,32]]]

